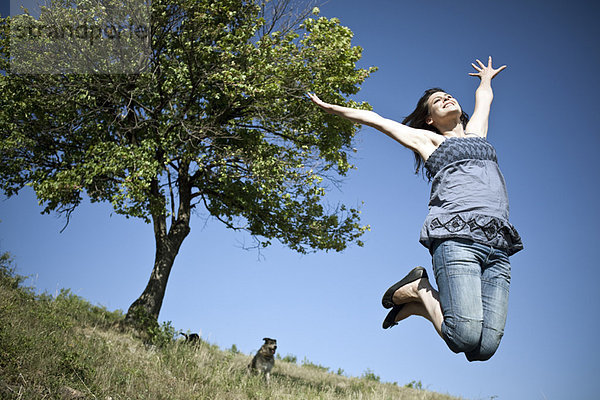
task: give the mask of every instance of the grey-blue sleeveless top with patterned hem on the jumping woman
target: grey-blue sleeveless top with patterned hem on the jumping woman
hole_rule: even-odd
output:
[[[480,137],[448,138],[425,162],[433,179],[420,242],[463,238],[506,250],[523,249],[508,222],[508,194],[496,150]]]

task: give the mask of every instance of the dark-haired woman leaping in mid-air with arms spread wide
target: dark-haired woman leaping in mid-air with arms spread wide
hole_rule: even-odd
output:
[[[494,69],[491,57],[487,65],[471,65],[476,72],[469,75],[480,78],[471,119],[439,88],[427,90],[402,123],[309,97],[326,112],[371,126],[414,151],[416,172],[424,167],[432,181],[420,242],[432,255],[438,290],[424,268],[410,271],[383,295],[383,306],[391,308],[383,328],[420,315],[452,351],[485,361],[498,349],[506,324],[508,257],[523,244],[508,222],[506,184],[486,140],[491,82],[506,66]]]

